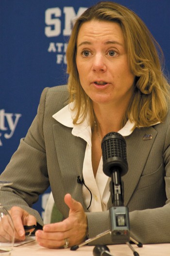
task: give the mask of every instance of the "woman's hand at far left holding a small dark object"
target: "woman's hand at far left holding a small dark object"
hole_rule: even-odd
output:
[[[20,207],[14,206],[9,211],[14,227],[15,227],[15,241],[22,241],[25,239],[25,230],[24,225],[36,225],[36,218],[33,215],[30,215],[25,210]],[[33,232],[34,229],[28,230],[27,232]]]

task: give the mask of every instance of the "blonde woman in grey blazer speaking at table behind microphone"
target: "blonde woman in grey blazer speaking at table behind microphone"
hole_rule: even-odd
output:
[[[31,206],[49,184],[65,220],[37,230],[40,245],[67,248],[109,229],[101,141],[114,131],[127,144],[129,170],[122,179],[131,236],[170,242],[169,84],[156,49],[144,23],[118,3],[100,2],[76,20],[68,86],[43,91],[37,116],[1,175],[13,181],[0,200],[16,239],[25,239],[23,225],[43,226]],[[107,235],[94,244],[114,242]]]

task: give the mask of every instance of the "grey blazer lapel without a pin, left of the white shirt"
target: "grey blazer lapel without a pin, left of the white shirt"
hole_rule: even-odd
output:
[[[77,177],[83,178],[83,162],[85,156],[86,142],[82,138],[71,134],[72,128],[60,123],[53,125],[53,134],[57,158],[63,177],[66,193],[79,201],[86,210],[82,185],[77,183]]]

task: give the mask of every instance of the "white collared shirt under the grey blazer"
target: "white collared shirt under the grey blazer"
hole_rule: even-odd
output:
[[[55,113],[52,117],[61,124],[73,128],[72,135],[83,138],[86,142],[85,158],[83,164],[83,177],[85,185],[89,188],[92,193],[92,201],[89,207],[90,212],[102,212],[107,210],[107,203],[110,197],[109,183],[110,177],[106,176],[102,171],[102,158],[99,163],[96,177],[94,177],[91,161],[91,127],[89,125],[89,117],[84,120],[81,124],[73,124],[74,112],[71,111],[73,103],[68,104],[66,107]],[[134,123],[127,121],[125,126],[119,130],[119,134],[123,137],[129,136],[135,129]],[[83,185],[83,199],[85,206],[88,207],[90,204],[90,193],[87,188]]]

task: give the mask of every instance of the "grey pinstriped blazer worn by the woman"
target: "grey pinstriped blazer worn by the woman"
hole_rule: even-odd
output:
[[[87,215],[89,237],[109,229],[109,212],[89,213],[82,196],[82,178],[86,142],[71,135],[71,128],[58,123],[52,115],[68,102],[67,86],[45,88],[37,115],[22,138],[0,179],[13,181],[0,192],[0,201],[10,209],[20,206],[43,225],[31,208],[51,185],[54,201],[68,217],[64,196],[70,193],[82,203]],[[131,236],[142,243],[170,242],[170,112],[164,123],[135,129],[126,137],[129,170],[122,177],[124,204],[129,208]],[[148,137],[150,135],[150,137]],[[151,138],[151,139],[143,139]],[[108,209],[111,207],[111,198]],[[110,236],[93,242],[114,243]]]

